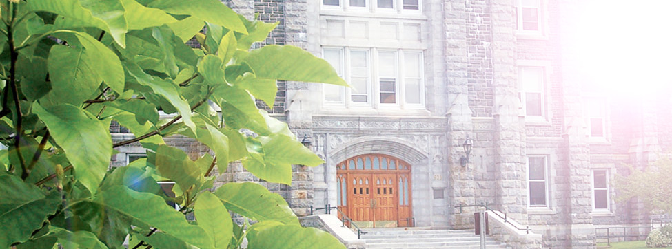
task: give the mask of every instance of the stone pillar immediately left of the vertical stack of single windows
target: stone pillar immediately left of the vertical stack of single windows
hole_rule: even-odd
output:
[[[516,80],[516,14],[513,2],[493,0],[493,85],[495,95],[495,169],[499,171],[496,206],[520,224],[527,224],[525,120],[520,116]]]

